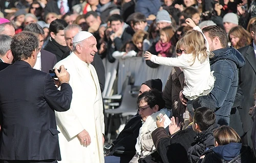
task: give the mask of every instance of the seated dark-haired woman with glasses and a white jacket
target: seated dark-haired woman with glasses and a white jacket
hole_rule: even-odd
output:
[[[165,102],[162,93],[159,91],[143,92],[138,97],[137,104],[142,118],[142,126],[135,145],[136,154],[130,161],[131,163],[138,162],[140,157],[145,157],[156,151],[151,133],[157,128],[157,116],[162,113],[170,117],[170,112],[164,108]]]

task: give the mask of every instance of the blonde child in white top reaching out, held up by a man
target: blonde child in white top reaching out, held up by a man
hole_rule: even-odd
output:
[[[207,39],[193,20],[187,18],[186,23],[193,30],[188,31],[180,42],[181,48],[177,51],[182,53],[181,56],[164,58],[146,51],[144,58],[160,65],[181,67],[186,83],[182,93],[188,100],[192,100],[199,96],[208,95],[214,87],[215,77],[214,72],[210,71],[210,51]]]

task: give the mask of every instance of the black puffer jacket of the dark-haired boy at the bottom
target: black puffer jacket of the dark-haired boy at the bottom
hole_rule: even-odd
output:
[[[187,156],[190,163],[196,163],[205,151],[214,148],[214,130],[218,127],[219,125],[215,123],[207,130],[197,134],[195,141],[191,143],[191,146],[187,151]]]

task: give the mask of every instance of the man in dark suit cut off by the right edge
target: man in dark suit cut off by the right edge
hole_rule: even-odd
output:
[[[244,94],[244,102],[242,108],[239,109],[239,113],[241,115],[241,120],[243,123],[243,129],[246,135],[242,137],[243,143],[249,144],[251,146],[251,126],[252,120],[249,116],[249,108],[253,105],[254,99],[254,89],[256,88],[256,23],[252,24],[251,36],[253,38],[253,42],[245,47],[238,49],[245,58],[245,66],[240,68],[239,75],[239,86]],[[255,123],[255,122],[254,122]],[[256,124],[253,124],[255,126]],[[255,126],[256,127],[256,126]],[[252,133],[255,134],[255,133]],[[255,142],[256,138],[252,142]],[[256,146],[256,143],[254,143]]]

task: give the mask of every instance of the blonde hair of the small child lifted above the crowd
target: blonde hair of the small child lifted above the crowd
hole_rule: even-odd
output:
[[[182,42],[180,42],[180,46],[185,48],[186,53],[191,53],[193,55],[193,61],[191,61],[193,64],[195,63],[196,58],[203,63],[208,57],[212,56],[212,53],[207,51],[203,34],[199,31],[187,31],[183,36]]]

